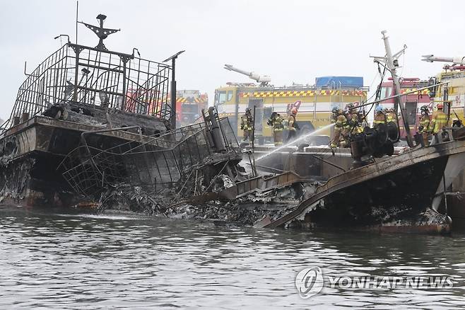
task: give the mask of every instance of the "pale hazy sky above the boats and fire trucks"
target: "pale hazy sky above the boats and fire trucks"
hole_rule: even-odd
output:
[[[0,117],[6,118],[25,79],[24,61],[33,71],[61,46],[56,35],[69,34],[74,42],[76,1],[0,4]],[[213,101],[216,87],[248,81],[223,69],[225,63],[269,75],[276,86],[349,75],[363,76],[374,88],[377,71],[369,55],[384,54],[384,29],[393,52],[408,46],[399,73],[426,79],[443,64],[421,62],[420,55],[465,55],[462,7],[462,1],[80,0],[79,21],[96,25],[95,16],[105,13],[105,26],[122,30],[105,40],[110,50],[130,54],[137,47],[155,61],[186,50],[177,61],[178,89],[208,92]],[[78,37],[83,45],[98,43],[83,25]]]

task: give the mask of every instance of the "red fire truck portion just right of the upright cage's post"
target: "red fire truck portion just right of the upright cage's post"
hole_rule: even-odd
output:
[[[208,108],[208,96],[200,91],[176,91],[177,127],[191,125],[201,115],[201,110]]]

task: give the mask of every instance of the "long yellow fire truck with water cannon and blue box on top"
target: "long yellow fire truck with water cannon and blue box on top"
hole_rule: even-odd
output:
[[[243,71],[225,64],[225,69],[248,76],[256,83],[227,83],[215,91],[215,106],[220,116],[228,116],[237,137],[242,137],[240,117],[246,108],[255,110],[255,137],[259,144],[273,141],[271,127],[266,120],[271,113],[279,113],[287,119],[293,108],[298,109],[297,122],[300,132],[317,130],[331,123],[331,110],[344,109],[348,103],[367,100],[368,88],[360,76],[322,76],[314,85],[293,84],[272,86],[269,76]],[[254,109],[255,108],[255,109]],[[322,132],[330,135],[330,131]]]

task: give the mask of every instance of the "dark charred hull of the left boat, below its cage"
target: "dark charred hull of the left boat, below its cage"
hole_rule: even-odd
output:
[[[157,119],[153,123],[163,125]],[[98,129],[43,116],[11,127],[0,139],[1,199],[29,207],[69,207],[87,202],[73,192],[59,163],[79,146],[83,132]],[[134,147],[140,139],[140,134],[128,130],[90,134],[88,143],[107,149],[130,142]]]

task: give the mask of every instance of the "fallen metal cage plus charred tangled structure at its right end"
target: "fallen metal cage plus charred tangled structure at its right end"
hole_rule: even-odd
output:
[[[81,145],[66,156],[59,168],[64,170],[71,188],[87,197],[98,197],[121,183],[153,193],[178,183],[184,182],[184,189],[187,183],[195,183],[198,188],[194,188],[193,194],[202,194],[214,187],[222,173],[230,182],[241,176],[237,163],[242,155],[228,119],[215,117],[218,127],[213,130],[204,122],[154,137],[142,135],[140,127],[85,132],[81,134]],[[220,130],[219,126],[229,130]],[[98,145],[96,138],[101,134],[131,129],[139,131],[139,139],[106,149]],[[216,130],[220,136],[214,134]]]

